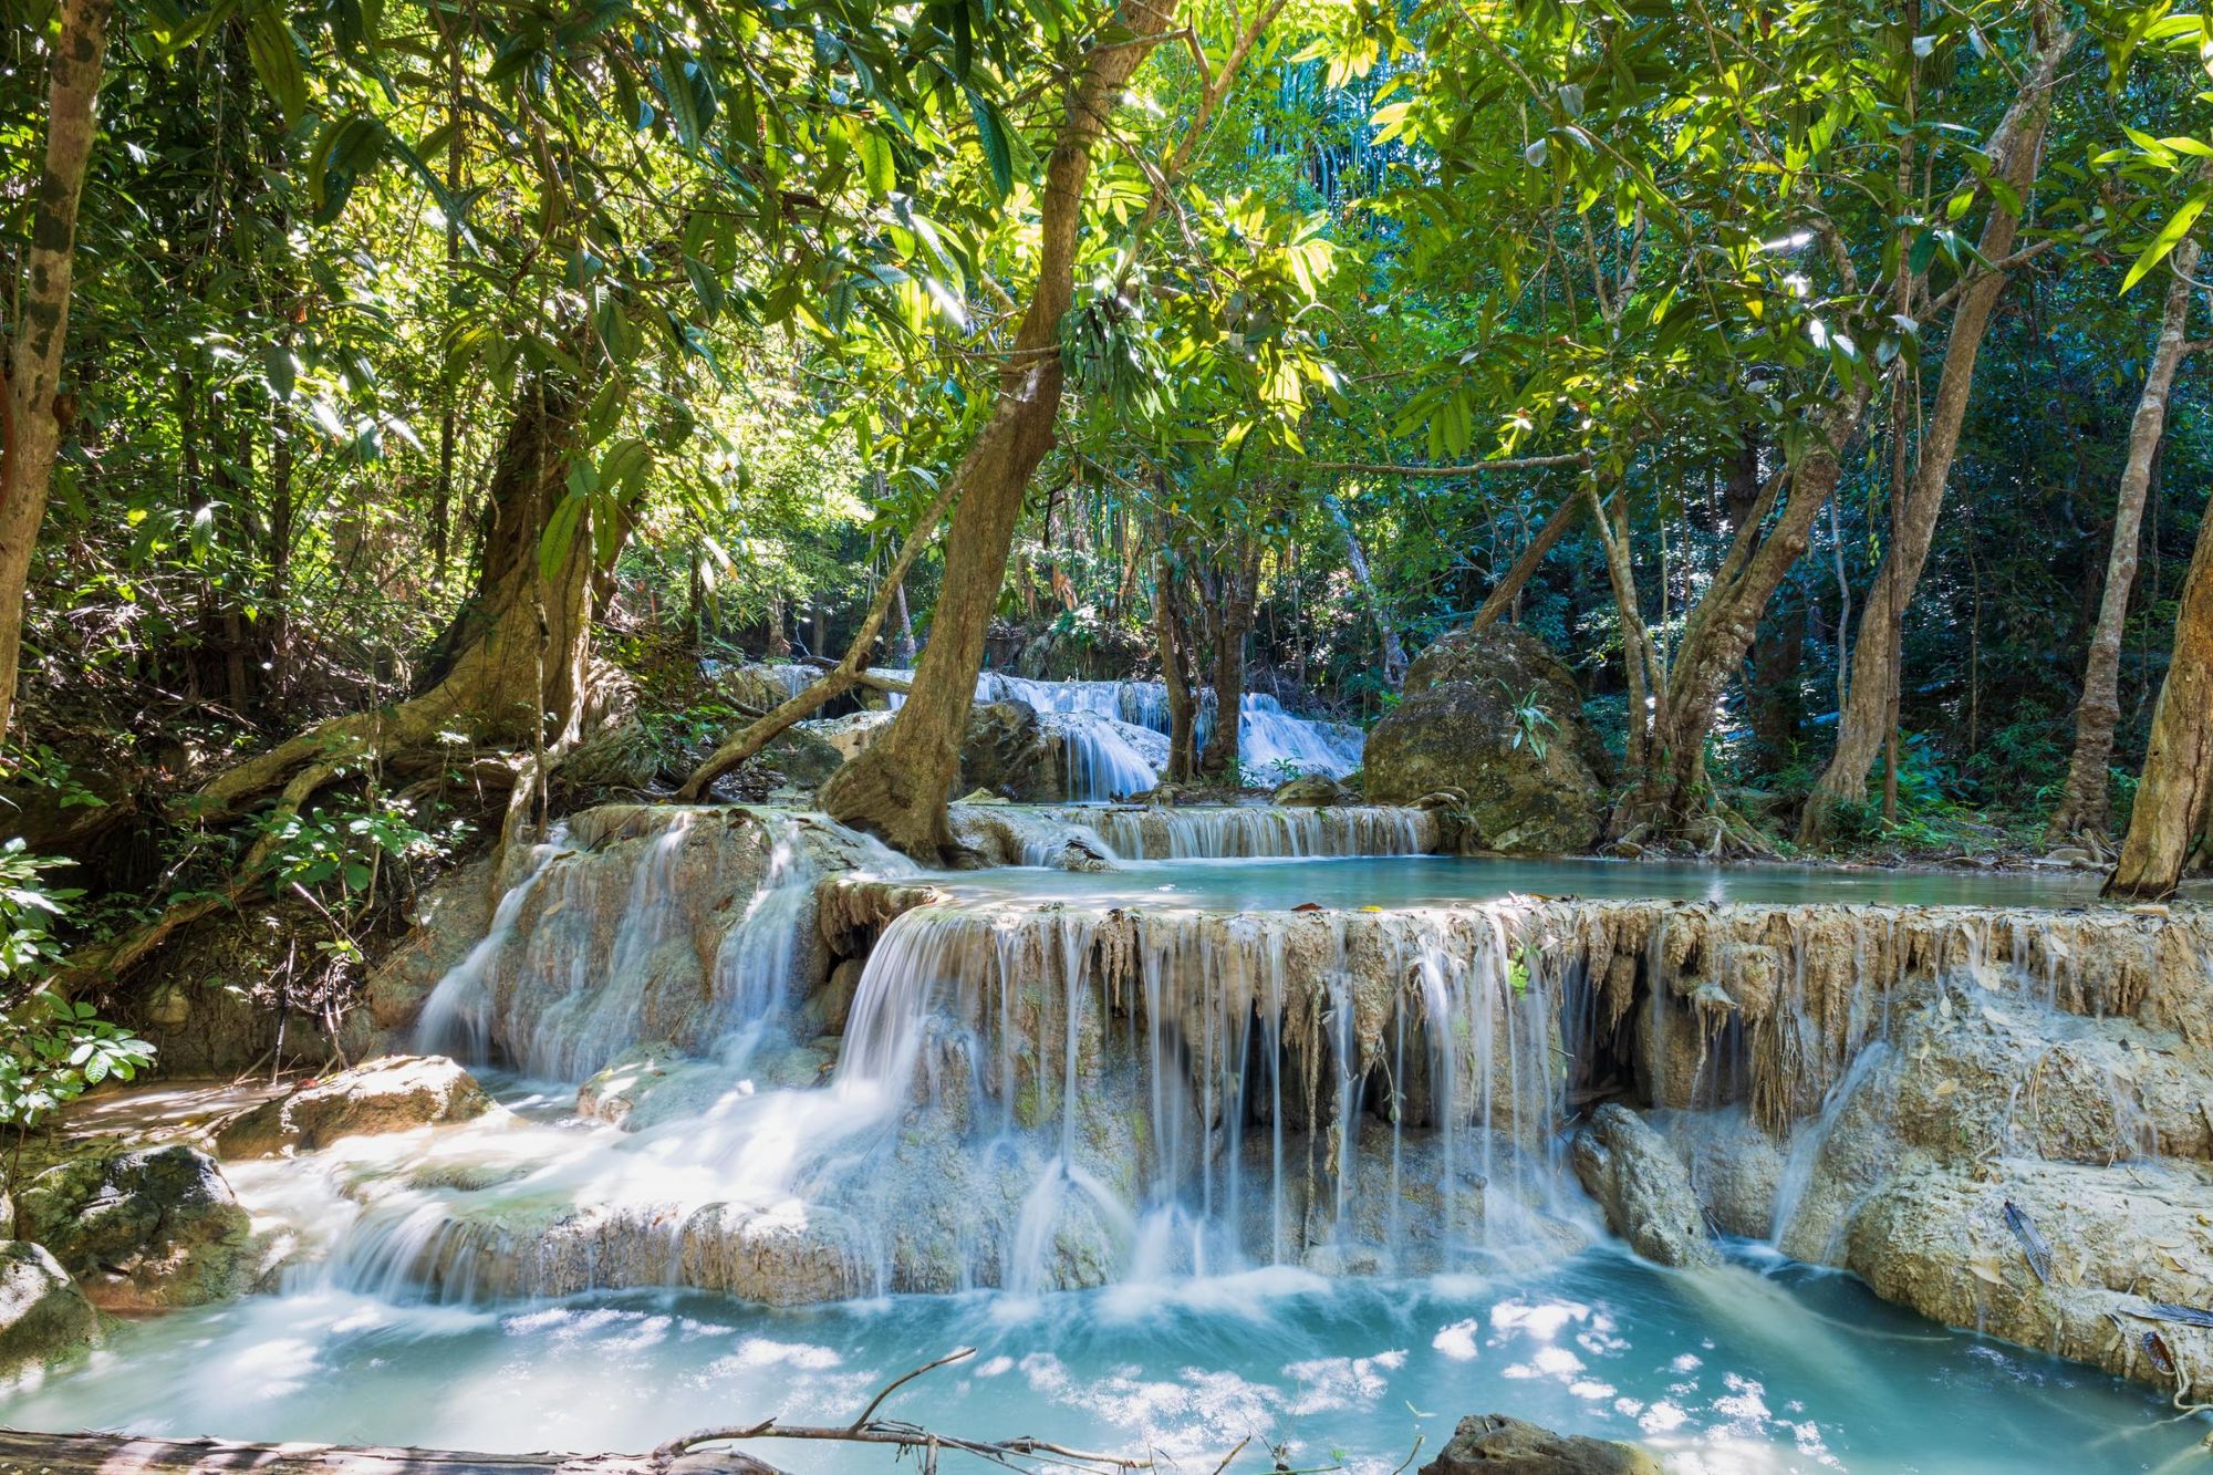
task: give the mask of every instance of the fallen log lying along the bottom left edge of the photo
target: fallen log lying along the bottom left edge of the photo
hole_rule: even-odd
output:
[[[469,1455],[440,1448],[239,1444],[0,1428],[0,1475],[781,1475],[737,1451]]]

